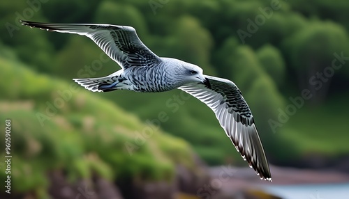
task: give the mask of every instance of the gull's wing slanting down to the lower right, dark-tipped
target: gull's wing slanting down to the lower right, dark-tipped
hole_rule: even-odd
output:
[[[242,157],[261,179],[272,181],[252,113],[239,88],[227,79],[205,77],[205,84],[191,83],[179,89],[207,104]]]

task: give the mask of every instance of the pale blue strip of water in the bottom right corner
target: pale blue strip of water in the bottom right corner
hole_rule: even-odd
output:
[[[263,186],[283,199],[349,199],[349,183]]]

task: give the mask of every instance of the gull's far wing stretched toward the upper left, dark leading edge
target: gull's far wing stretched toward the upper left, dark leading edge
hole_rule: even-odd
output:
[[[21,22],[22,25],[47,31],[85,35],[124,69],[131,66],[151,66],[161,62],[161,59],[142,43],[131,26]]]

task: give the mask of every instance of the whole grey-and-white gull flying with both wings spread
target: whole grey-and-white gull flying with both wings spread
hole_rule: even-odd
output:
[[[107,77],[73,79],[87,90],[156,93],[179,88],[198,98],[214,111],[226,135],[260,179],[272,181],[252,113],[232,81],[205,75],[198,65],[158,57],[143,44],[131,26],[20,22],[31,28],[85,35],[121,66],[121,70]]]

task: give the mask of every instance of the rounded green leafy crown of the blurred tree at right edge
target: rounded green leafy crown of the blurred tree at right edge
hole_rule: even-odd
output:
[[[313,67],[322,68],[323,64],[331,63],[334,52],[348,50],[348,35],[338,24],[310,22],[288,38],[285,44],[290,51],[291,66],[304,71]]]

